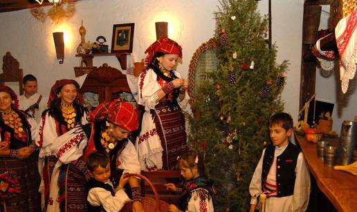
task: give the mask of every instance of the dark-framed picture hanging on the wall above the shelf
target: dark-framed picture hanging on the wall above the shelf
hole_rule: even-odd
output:
[[[111,52],[132,52],[134,38],[134,23],[113,25]]]

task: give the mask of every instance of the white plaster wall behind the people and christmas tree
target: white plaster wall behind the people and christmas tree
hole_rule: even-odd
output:
[[[259,1],[259,9],[266,12],[267,2]],[[103,35],[109,48],[113,24],[135,23],[133,55],[137,60],[145,57],[143,52],[156,39],[154,22],[169,21],[169,25],[173,25],[169,37],[183,46],[183,64],[178,66],[178,71],[187,77],[192,54],[213,35],[215,21],[212,13],[217,10],[217,5],[217,0],[78,1],[75,16],[57,26],[48,18],[44,23],[37,21],[29,10],[3,12],[0,13],[0,55],[10,51],[20,62],[24,75],[33,73],[37,77],[39,93],[47,95],[56,79],[73,78],[73,66],[79,66],[80,58],[75,57],[75,48],[80,43],[78,28],[81,20],[86,28],[86,41],[94,41],[98,35]],[[291,113],[295,121],[300,90],[302,12],[303,0],[272,1],[273,41],[279,46],[277,61],[290,61],[282,99],[286,112]],[[62,65],[55,58],[52,32],[57,30],[65,30],[68,36]],[[94,66],[104,62],[120,69],[116,57],[93,59]]]

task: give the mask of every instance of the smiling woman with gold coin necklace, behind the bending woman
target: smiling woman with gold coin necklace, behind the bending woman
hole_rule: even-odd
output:
[[[57,162],[57,157],[51,152],[53,142],[77,124],[88,123],[86,121],[87,110],[80,103],[80,85],[77,81],[73,79],[57,80],[51,88],[48,110],[45,110],[42,115],[42,126],[39,129],[39,141],[37,142],[40,148],[39,173],[42,175],[39,191],[44,195],[43,204],[45,206],[55,201],[48,198],[51,176]],[[78,174],[77,166],[80,166],[80,162],[63,168],[69,168]],[[68,184],[73,183],[71,180],[68,179]]]

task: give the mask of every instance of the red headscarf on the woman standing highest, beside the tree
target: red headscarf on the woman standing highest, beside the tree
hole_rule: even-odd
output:
[[[147,53],[147,57],[145,59],[145,67],[149,66],[154,58],[156,52],[162,52],[164,54],[177,54],[178,57],[182,58],[182,48],[172,39],[167,37],[161,37],[157,41],[154,42],[147,50],[145,50],[145,54]]]

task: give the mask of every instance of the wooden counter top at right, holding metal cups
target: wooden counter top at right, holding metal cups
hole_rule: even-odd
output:
[[[306,142],[302,135],[296,135],[296,138],[318,187],[333,206],[340,212],[357,211],[357,177],[344,171],[336,171],[333,166],[325,165],[317,155],[316,144]],[[329,141],[329,139],[324,140]]]

